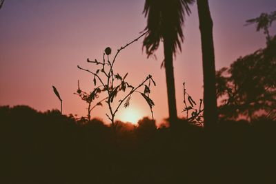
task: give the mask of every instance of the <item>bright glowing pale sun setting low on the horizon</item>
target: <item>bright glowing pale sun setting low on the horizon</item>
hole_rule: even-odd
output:
[[[137,124],[139,119],[141,119],[141,113],[134,108],[128,108],[120,114],[119,119],[124,122]]]

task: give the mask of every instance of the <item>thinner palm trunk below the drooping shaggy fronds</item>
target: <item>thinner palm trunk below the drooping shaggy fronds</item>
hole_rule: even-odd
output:
[[[175,101],[175,76],[173,72],[172,47],[170,39],[164,38],[164,56],[166,69],[166,83],[168,94],[168,114],[170,127],[175,127],[177,122],[177,107]]]

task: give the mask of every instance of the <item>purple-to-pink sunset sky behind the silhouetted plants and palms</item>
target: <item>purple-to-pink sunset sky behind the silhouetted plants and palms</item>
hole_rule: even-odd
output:
[[[228,67],[240,56],[264,47],[266,39],[255,26],[244,26],[247,19],[262,12],[276,10],[275,0],[210,0],[214,22],[216,69]],[[55,85],[63,99],[64,114],[86,115],[87,105],[73,94],[77,81],[86,92],[93,90],[92,76],[77,69],[95,70],[86,59],[101,61],[103,50],[112,48],[111,58],[122,45],[139,36],[146,27],[142,14],[144,1],[136,0],[6,0],[0,10],[0,105],[30,105],[46,111],[59,109],[59,100],[52,92]],[[188,93],[199,101],[203,96],[201,43],[197,6],[186,17],[182,52],[174,62],[177,112],[184,116],[182,83]],[[271,32],[275,34],[276,26]],[[120,52],[115,72],[134,85],[152,75],[157,86],[152,88],[153,111],[157,123],[168,116],[163,48],[157,59],[147,59],[142,41]],[[103,98],[103,97],[102,97]],[[102,99],[101,97],[99,99]],[[96,108],[92,117],[106,118],[108,108]],[[117,119],[132,121],[150,116],[150,109],[141,95],[132,95],[130,107],[117,114]]]

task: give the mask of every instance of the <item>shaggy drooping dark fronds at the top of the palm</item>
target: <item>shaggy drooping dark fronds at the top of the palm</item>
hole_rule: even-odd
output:
[[[181,50],[181,42],[184,34],[181,25],[184,23],[185,14],[190,15],[190,5],[194,0],[173,0],[158,1],[147,0],[144,6],[145,17],[148,23],[145,30],[148,30],[144,39],[144,47],[148,56],[153,54],[159,47],[159,42],[170,38],[172,52],[177,48]]]

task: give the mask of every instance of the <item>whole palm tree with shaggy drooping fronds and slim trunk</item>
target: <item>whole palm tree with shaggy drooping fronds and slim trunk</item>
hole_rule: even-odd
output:
[[[194,0],[146,0],[144,6],[145,17],[148,17],[145,30],[148,32],[143,45],[148,57],[157,50],[161,40],[164,43],[170,126],[177,121],[173,54],[177,48],[181,51],[181,42],[184,40],[181,25],[184,23],[185,14],[190,14],[189,6],[193,2]]]

